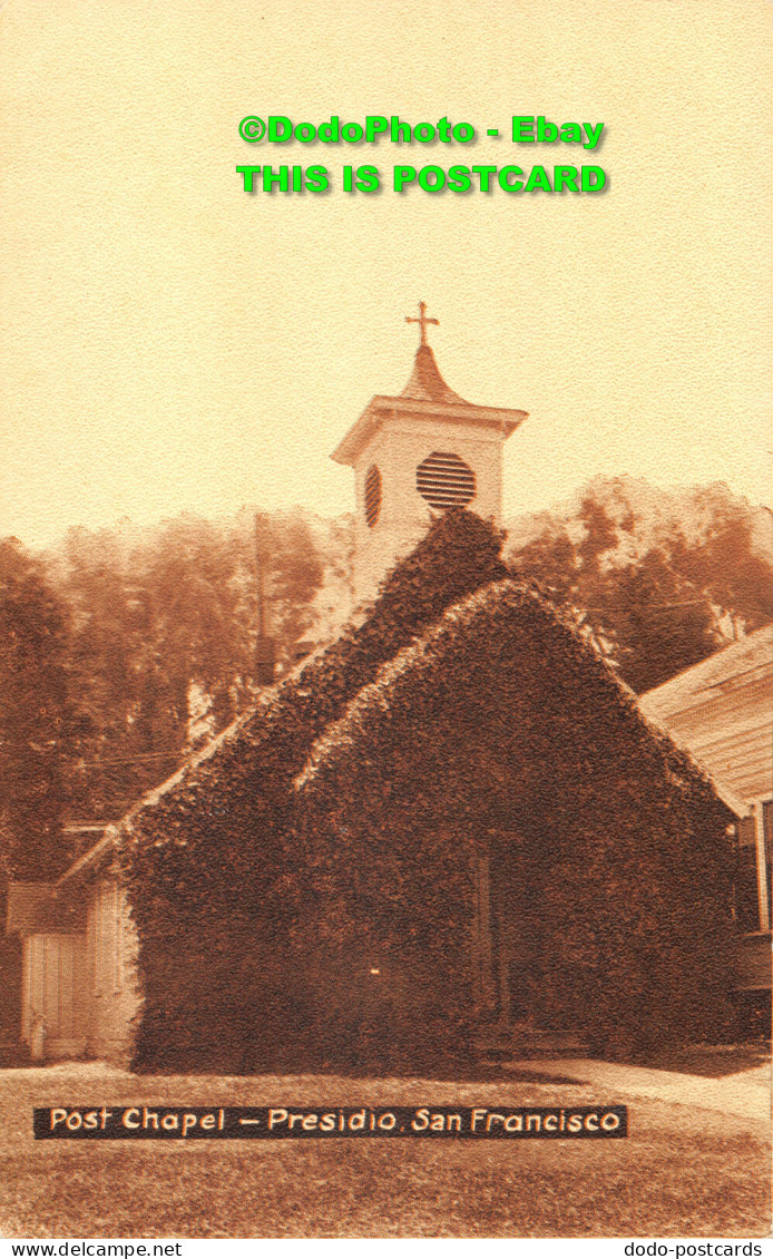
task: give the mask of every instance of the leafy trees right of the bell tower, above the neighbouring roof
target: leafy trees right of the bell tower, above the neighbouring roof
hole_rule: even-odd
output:
[[[773,564],[757,549],[754,514],[726,487],[675,502],[648,487],[648,510],[627,488],[594,483],[510,560],[575,609],[641,692],[773,619]]]

